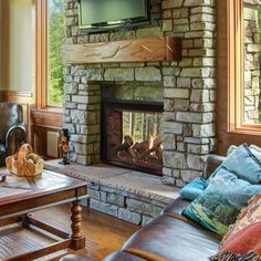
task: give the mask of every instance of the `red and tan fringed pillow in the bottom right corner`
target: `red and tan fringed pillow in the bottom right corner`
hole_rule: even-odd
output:
[[[261,261],[261,195],[241,210],[211,261]]]

